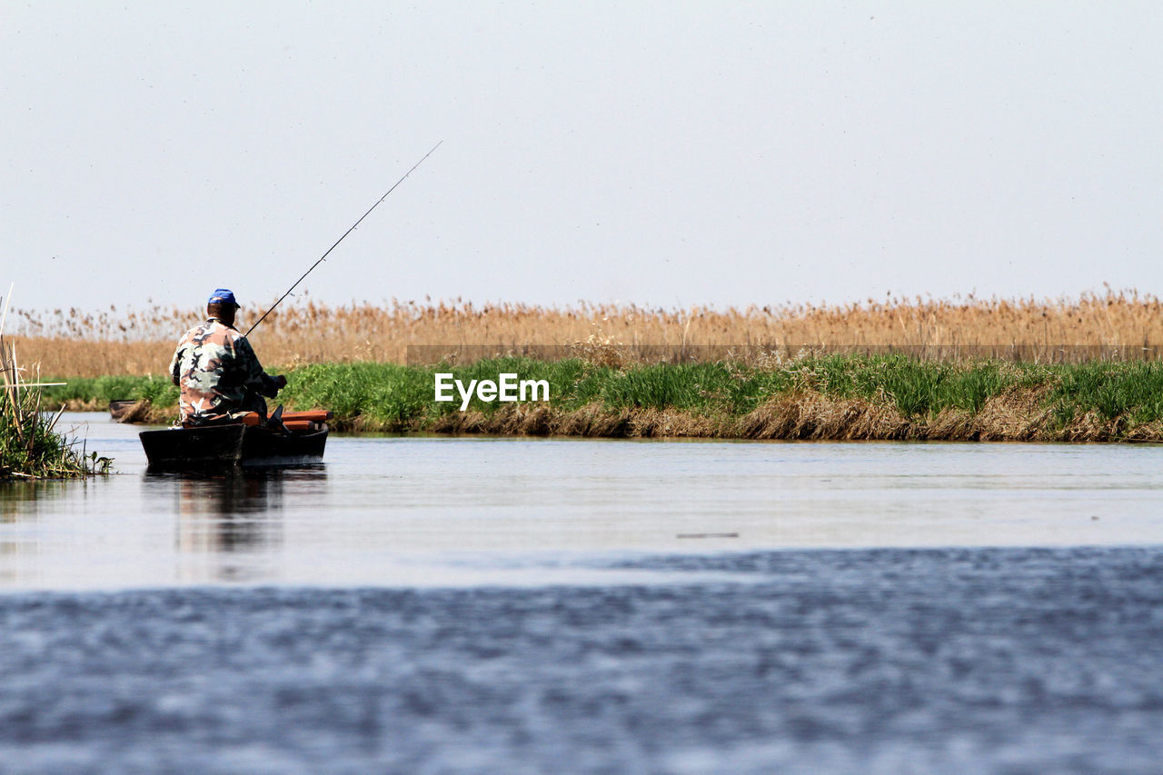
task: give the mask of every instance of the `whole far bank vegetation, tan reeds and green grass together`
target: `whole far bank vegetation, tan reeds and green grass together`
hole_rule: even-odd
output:
[[[243,310],[240,329],[262,308]],[[200,319],[157,306],[15,311],[21,353],[69,382],[47,401],[138,399],[133,419],[155,424],[176,419],[165,364]],[[330,408],[340,431],[1163,441],[1163,303],[1134,290],[726,311],[299,299],[250,339],[291,381],[279,400]],[[461,412],[434,400],[437,371],[545,379],[550,400]]]

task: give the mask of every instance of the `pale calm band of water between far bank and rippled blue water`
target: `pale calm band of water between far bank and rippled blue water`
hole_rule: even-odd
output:
[[[0,588],[579,583],[620,553],[1163,543],[1161,446],[336,435],[323,465],[198,476],[147,472],[137,428],[80,432],[119,474],[0,486]]]

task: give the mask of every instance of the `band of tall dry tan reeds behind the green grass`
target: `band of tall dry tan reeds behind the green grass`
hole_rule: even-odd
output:
[[[240,313],[240,329],[259,307]],[[21,351],[42,372],[67,377],[163,375],[183,332],[202,310],[152,306],[101,312],[17,311]],[[536,353],[638,362],[649,347],[683,354],[700,347],[744,361],[801,349],[875,353],[893,348],[922,358],[1087,361],[1163,355],[1163,304],[1135,290],[1050,300],[925,298],[868,299],[848,305],[783,304],[715,310],[577,304],[542,307],[393,299],[383,305],[329,306],[299,301],[276,310],[252,335],[264,363],[405,363],[408,348],[449,353]],[[468,349],[466,349],[468,348]],[[547,356],[548,357],[548,356]]]

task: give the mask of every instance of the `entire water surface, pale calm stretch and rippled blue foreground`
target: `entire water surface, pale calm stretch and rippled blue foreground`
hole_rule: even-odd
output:
[[[1155,773],[1163,447],[343,438],[0,488],[5,772]]]

